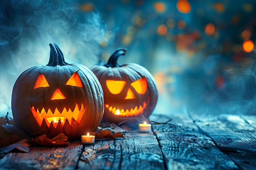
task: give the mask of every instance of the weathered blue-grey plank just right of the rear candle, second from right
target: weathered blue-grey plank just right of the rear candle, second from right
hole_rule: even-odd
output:
[[[175,124],[176,129],[170,124],[153,125],[169,170],[238,169],[209,137],[198,131],[187,115],[156,115],[150,118],[165,122],[170,117],[173,119],[170,123]]]

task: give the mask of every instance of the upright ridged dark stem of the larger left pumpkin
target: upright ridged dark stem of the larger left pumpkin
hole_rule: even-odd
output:
[[[47,66],[65,66],[68,63],[64,60],[64,55],[61,49],[58,47],[56,43],[49,44],[51,52],[50,52],[50,59]]]

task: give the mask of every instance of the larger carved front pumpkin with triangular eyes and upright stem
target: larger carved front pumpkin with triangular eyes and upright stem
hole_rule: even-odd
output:
[[[49,63],[27,69],[13,86],[13,119],[28,134],[80,139],[101,122],[103,91],[92,71],[68,64],[58,46],[49,45]]]

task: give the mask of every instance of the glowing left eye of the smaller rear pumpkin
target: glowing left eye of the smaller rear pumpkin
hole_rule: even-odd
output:
[[[124,89],[125,81],[119,80],[106,80],[106,85],[110,93],[117,95]]]

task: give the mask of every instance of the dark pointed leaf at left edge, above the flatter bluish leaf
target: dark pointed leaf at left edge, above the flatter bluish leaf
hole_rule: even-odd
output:
[[[12,134],[0,126],[0,148],[14,144],[18,141],[20,141],[18,135]]]

